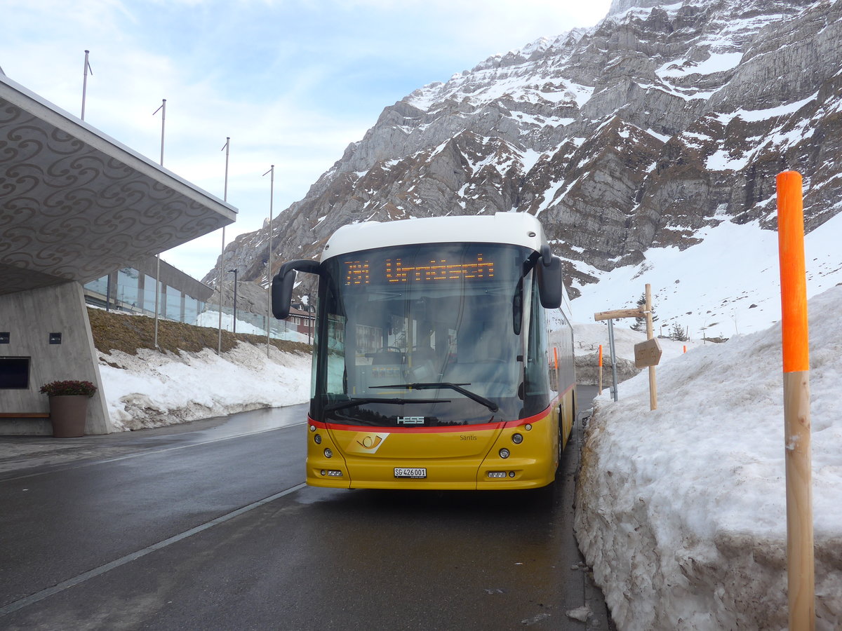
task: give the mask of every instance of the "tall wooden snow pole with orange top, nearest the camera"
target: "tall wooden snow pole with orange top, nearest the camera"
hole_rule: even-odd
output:
[[[789,628],[816,624],[813,555],[813,488],[810,455],[810,352],[807,273],[804,264],[802,178],[777,177],[778,247],[781,257],[781,336],[786,448],[786,581]]]

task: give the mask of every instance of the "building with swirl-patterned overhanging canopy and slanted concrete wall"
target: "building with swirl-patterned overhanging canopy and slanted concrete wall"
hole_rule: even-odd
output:
[[[83,284],[231,224],[237,209],[0,72],[0,433],[49,433],[40,386],[98,386]]]

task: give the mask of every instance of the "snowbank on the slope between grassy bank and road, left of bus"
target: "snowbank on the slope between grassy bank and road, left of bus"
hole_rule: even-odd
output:
[[[239,342],[227,353],[99,353],[117,431],[160,427],[310,398],[310,356]]]

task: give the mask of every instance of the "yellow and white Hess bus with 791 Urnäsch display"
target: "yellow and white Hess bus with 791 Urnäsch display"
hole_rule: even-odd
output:
[[[319,261],[280,267],[279,319],[296,272],[318,276],[307,484],[493,490],[555,479],[575,409],[573,328],[562,261],[535,217],[345,225]]]

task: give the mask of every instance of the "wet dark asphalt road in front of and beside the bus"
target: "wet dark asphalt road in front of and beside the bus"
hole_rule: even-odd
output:
[[[610,628],[573,539],[578,443],[547,491],[322,490],[301,485],[304,413],[8,465],[0,628]]]

